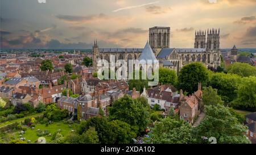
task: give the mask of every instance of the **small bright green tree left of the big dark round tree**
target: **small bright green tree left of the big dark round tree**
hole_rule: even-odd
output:
[[[159,69],[159,83],[175,85],[177,82],[177,73],[168,68]]]

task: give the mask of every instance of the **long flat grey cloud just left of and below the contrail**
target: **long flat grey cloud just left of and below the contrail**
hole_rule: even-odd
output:
[[[105,14],[98,14],[98,15],[88,15],[88,16],[75,16],[75,15],[55,15],[57,19],[64,20],[65,22],[92,22],[93,20],[97,19],[106,19],[108,18]]]

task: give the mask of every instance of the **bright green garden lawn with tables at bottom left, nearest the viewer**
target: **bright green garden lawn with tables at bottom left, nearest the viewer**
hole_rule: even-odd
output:
[[[70,125],[70,127],[69,127]],[[49,133],[51,133],[53,135],[54,132],[58,131],[59,129],[61,129],[60,133],[61,135],[63,135],[64,137],[68,136],[71,132],[71,130],[76,130],[77,128],[77,123],[73,123],[73,124],[64,124],[62,121],[60,122],[53,122],[52,124],[49,124],[48,127],[46,127],[46,124],[40,124],[37,123],[35,124],[35,129],[31,129],[29,127],[27,128],[27,131],[25,131],[25,133],[23,134],[23,137],[26,138],[27,140],[31,140],[31,143],[35,143],[36,140],[38,140],[39,136],[36,135],[36,130],[40,129],[40,130],[48,130]],[[18,139],[19,137],[19,132],[15,132],[15,138]],[[49,141],[51,140],[51,136],[43,136],[46,138],[46,143],[49,143]]]

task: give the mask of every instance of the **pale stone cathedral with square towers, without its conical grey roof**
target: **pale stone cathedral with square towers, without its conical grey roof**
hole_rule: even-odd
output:
[[[170,48],[170,27],[149,28],[149,45],[159,60],[159,66],[173,69],[179,74],[180,69],[191,62],[202,62],[205,66],[217,68],[221,64],[220,29],[195,32],[194,48]],[[93,44],[93,72],[97,72],[97,61],[138,60],[143,48],[99,48]],[[110,55],[114,60],[110,60]]]

